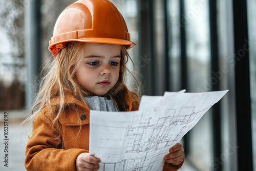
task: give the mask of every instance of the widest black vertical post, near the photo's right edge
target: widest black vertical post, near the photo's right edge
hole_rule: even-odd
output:
[[[246,0],[233,0],[238,170],[252,170],[249,42]]]

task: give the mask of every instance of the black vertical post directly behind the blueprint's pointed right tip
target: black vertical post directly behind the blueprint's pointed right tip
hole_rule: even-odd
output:
[[[220,80],[216,77],[219,72],[219,48],[218,48],[218,28],[217,28],[217,1],[209,1],[209,16],[210,16],[210,50],[211,50],[211,77],[218,79],[212,84],[212,91],[220,90]],[[221,157],[221,106],[220,103],[212,106],[212,133],[213,133],[213,158]],[[214,170],[221,171],[222,165],[218,165]]]

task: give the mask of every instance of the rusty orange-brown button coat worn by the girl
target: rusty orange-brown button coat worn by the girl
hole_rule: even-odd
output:
[[[136,111],[139,108],[139,102],[132,99],[131,95],[129,91],[124,95],[129,106],[127,111]],[[52,100],[53,106],[58,104],[58,98]],[[48,109],[43,109],[36,116],[33,122],[33,133],[26,147],[27,170],[76,170],[77,156],[89,152],[90,110],[83,102],[71,95],[66,97],[65,104],[76,106],[76,108],[69,108],[70,110],[63,112],[59,117],[61,136],[58,139],[53,138],[56,137],[56,133],[52,129],[52,117],[48,115]],[[78,118],[76,111],[72,110],[77,108],[84,111],[79,115],[85,115],[86,120]],[[178,170],[182,163],[179,166],[165,163],[163,170]]]

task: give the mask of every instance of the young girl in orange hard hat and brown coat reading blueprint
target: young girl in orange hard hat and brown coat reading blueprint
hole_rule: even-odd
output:
[[[60,14],[49,46],[54,57],[29,118],[27,170],[99,169],[100,159],[88,153],[90,109],[138,110],[138,95],[124,84],[126,50],[133,46],[122,15],[108,0],[80,0]],[[182,145],[171,147],[164,160],[163,170],[178,170]]]

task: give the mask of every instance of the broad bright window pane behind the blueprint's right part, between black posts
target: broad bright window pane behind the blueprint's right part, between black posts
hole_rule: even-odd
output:
[[[182,14],[186,29],[188,61],[188,91],[205,92],[211,89],[210,34],[208,1],[186,0]],[[190,157],[200,170],[210,170],[212,156],[211,112],[208,111],[190,131]]]

